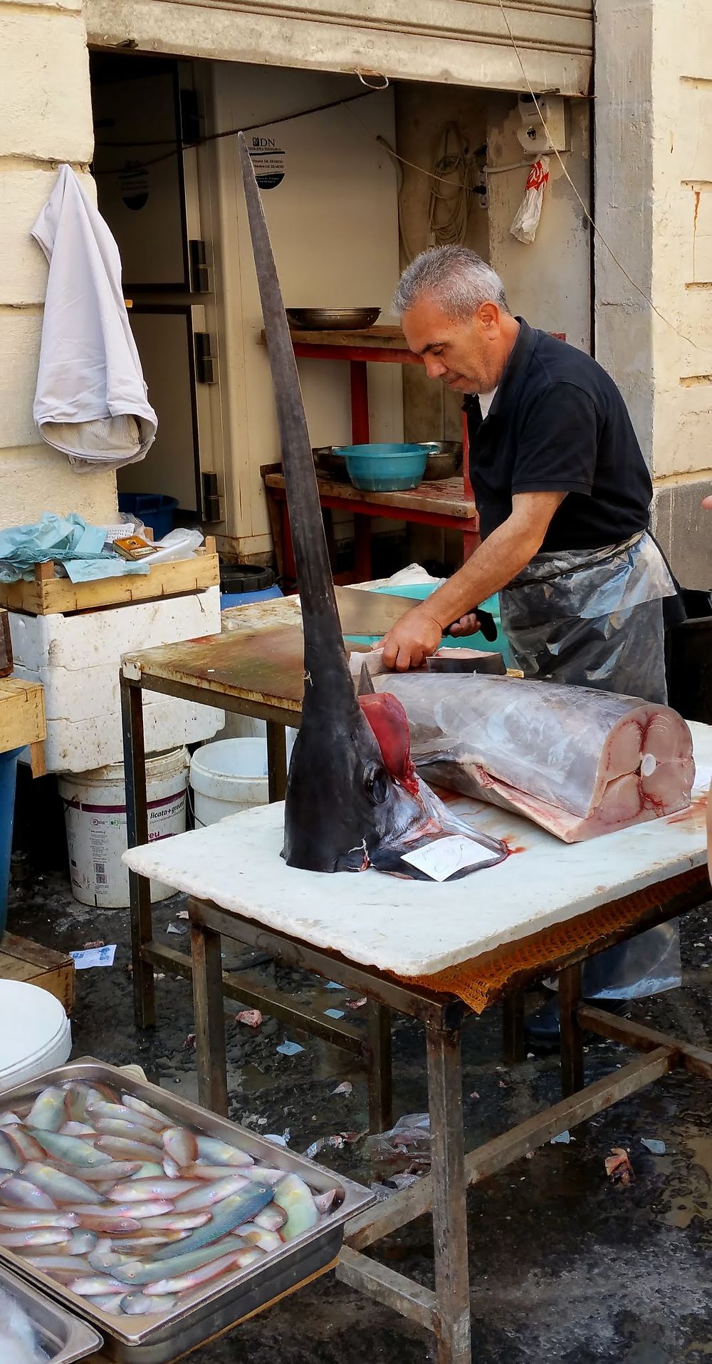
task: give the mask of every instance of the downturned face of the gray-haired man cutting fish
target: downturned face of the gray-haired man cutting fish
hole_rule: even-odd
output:
[[[401,319],[411,351],[423,356],[430,379],[457,393],[490,393],[502,378],[506,346],[495,303],[472,318],[449,318],[432,299],[419,299]]]

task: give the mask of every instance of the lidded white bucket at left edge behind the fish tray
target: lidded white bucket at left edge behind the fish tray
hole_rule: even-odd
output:
[[[70,1020],[49,990],[0,981],[0,1091],[64,1065],[71,1049]]]

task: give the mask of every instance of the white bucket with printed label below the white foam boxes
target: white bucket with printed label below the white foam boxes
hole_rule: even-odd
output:
[[[188,752],[172,749],[146,760],[149,840],[186,831]],[[67,847],[72,895],[80,904],[116,910],[128,904],[125,787],[123,762],[93,772],[65,773],[59,779],[67,821]],[[151,881],[151,900],[165,900],[175,891]]]

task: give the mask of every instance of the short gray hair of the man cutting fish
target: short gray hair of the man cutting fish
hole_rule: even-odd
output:
[[[424,297],[431,297],[447,318],[471,318],[483,303],[496,303],[509,312],[502,280],[469,247],[421,251],[401,274],[393,311],[402,316]]]

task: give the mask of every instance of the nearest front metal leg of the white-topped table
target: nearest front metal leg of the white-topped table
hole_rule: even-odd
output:
[[[460,1028],[427,1028],[438,1364],[471,1364]]]

